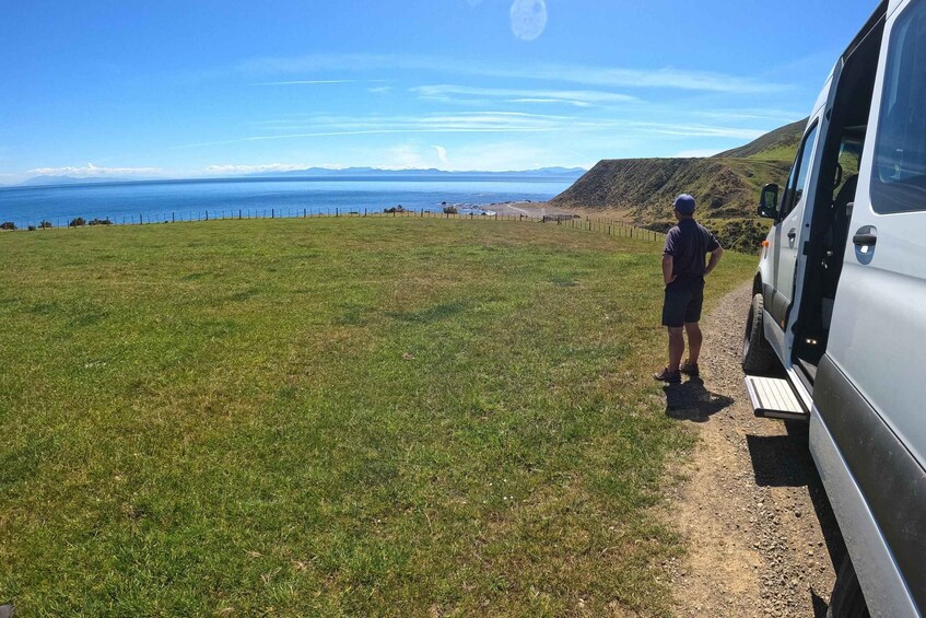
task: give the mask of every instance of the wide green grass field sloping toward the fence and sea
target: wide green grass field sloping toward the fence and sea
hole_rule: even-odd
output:
[[[657,243],[538,223],[0,234],[23,616],[661,615]],[[710,302],[754,258],[728,254]]]

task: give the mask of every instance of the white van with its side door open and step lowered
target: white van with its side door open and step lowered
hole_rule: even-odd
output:
[[[836,62],[787,185],[762,189],[743,341],[757,415],[810,422],[848,556],[834,616],[926,610],[926,0]],[[769,377],[777,370],[785,377]]]

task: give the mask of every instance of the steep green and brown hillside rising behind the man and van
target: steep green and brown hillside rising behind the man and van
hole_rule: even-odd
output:
[[[672,224],[672,199],[688,193],[722,242],[752,250],[767,228],[755,217],[759,189],[785,182],[805,125],[786,125],[710,158],[602,160],[551,205],[611,211],[663,231]]]

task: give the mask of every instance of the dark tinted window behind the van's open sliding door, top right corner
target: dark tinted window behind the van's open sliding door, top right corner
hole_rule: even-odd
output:
[[[926,3],[911,4],[891,33],[878,118],[871,207],[926,210]]]

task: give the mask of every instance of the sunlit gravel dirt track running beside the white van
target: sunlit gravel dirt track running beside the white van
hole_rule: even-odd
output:
[[[696,425],[669,503],[685,559],[667,564],[680,616],[823,616],[845,548],[807,450],[807,427],[752,415],[739,366],[750,288],[702,323],[703,382],[666,387]]]

